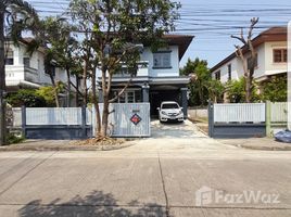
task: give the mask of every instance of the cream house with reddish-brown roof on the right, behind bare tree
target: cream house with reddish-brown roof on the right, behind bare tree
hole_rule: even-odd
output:
[[[254,78],[256,81],[265,81],[273,76],[287,74],[287,27],[269,28],[253,40],[257,52],[256,68]],[[244,51],[248,60],[249,52]],[[236,52],[211,68],[214,79],[226,82],[231,79],[239,79],[243,76],[243,65]]]

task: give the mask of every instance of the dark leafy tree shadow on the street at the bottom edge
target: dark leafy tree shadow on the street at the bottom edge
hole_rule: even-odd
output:
[[[119,206],[112,194],[93,191],[81,197],[76,195],[68,202],[55,199],[49,204],[35,200],[18,209],[21,217],[164,217],[165,208],[159,204],[142,204],[132,201]]]

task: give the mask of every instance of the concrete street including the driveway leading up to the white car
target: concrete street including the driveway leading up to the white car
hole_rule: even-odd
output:
[[[291,216],[291,152],[225,145],[188,122],[152,133],[109,152],[1,152],[0,216]],[[197,204],[202,187],[211,204]],[[251,190],[279,203],[219,197]]]

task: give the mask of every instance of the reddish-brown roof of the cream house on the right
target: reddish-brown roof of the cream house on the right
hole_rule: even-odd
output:
[[[276,26],[271,27],[263,33],[261,33],[257,37],[255,37],[252,42],[254,48],[261,46],[265,42],[271,42],[271,41],[287,41],[287,27]],[[248,52],[245,50],[245,47],[242,47],[243,52]],[[230,62],[232,59],[237,56],[236,52],[231,53],[229,56],[227,56],[225,60],[216,64],[211,68],[211,73],[215,72],[226,63]]]

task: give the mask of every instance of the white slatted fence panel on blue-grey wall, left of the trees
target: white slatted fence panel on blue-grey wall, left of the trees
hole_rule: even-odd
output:
[[[81,107],[27,107],[26,125],[81,125]]]

